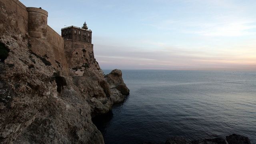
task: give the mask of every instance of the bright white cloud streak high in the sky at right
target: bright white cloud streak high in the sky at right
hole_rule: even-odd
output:
[[[175,30],[176,33],[202,36],[249,36],[256,34],[256,20],[218,18],[212,22],[164,20],[157,24],[143,24],[158,30]]]

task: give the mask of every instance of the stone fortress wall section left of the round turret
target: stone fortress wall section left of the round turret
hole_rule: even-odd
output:
[[[28,32],[28,12],[24,4],[18,0],[1,0],[0,7],[8,14],[10,25],[18,28],[23,34]]]

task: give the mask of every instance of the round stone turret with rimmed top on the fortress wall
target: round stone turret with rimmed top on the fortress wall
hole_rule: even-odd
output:
[[[41,8],[28,7],[28,34],[46,39],[48,12]]]

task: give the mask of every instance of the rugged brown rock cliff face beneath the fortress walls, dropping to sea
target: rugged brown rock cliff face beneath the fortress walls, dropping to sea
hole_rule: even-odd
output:
[[[121,71],[104,78],[100,71],[86,68],[82,76],[74,76],[64,61],[64,76],[58,76],[59,60],[55,58],[64,60],[63,53],[57,50],[55,56],[47,56],[43,54],[47,50],[39,52],[46,45],[33,48],[31,40],[40,39],[32,39],[17,28],[14,14],[2,5],[0,143],[104,143],[91,118],[108,112],[128,94]]]

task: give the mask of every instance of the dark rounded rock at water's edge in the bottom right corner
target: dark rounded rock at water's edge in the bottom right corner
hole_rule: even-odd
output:
[[[246,136],[241,136],[238,134],[232,134],[230,136],[226,136],[226,140],[228,144],[250,144],[250,140]]]

